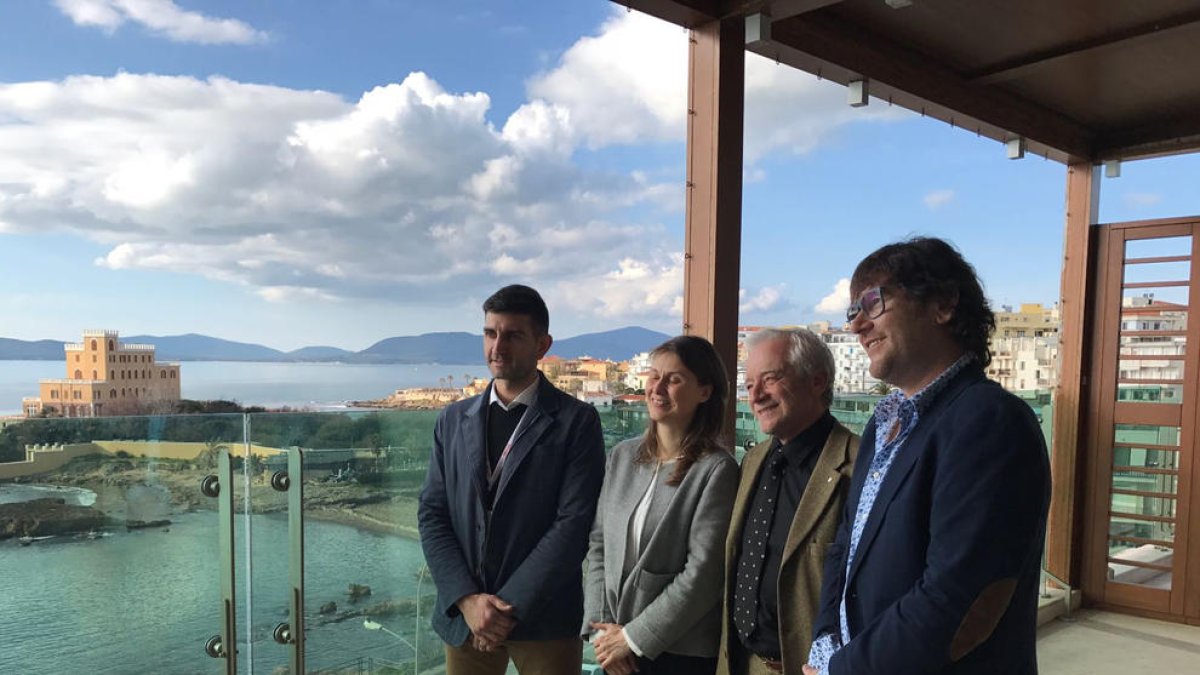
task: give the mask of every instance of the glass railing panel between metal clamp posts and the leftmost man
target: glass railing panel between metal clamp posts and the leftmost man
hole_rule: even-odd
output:
[[[287,621],[289,583],[286,497],[271,494],[269,477],[295,452],[304,456],[307,670],[413,673],[414,663],[418,671],[443,664],[416,528],[437,412],[250,416],[254,446],[269,453],[252,488],[256,671],[288,663],[289,647],[270,638]]]

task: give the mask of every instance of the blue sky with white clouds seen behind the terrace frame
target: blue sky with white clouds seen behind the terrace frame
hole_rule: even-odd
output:
[[[0,4],[0,336],[362,350],[558,338],[683,306],[686,32],[607,0]],[[1102,221],[1200,213],[1195,156]],[[992,303],[1058,299],[1066,167],[746,55],[742,324],[840,324],[876,247],[946,237]]]

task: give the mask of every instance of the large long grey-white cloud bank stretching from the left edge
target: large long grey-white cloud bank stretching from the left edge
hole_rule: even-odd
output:
[[[582,169],[563,108],[497,130],[490,104],[424,73],[358,101],[130,73],[0,84],[0,223],[281,303],[458,301],[526,280],[595,316],[677,316],[678,243],[646,219],[680,187]]]

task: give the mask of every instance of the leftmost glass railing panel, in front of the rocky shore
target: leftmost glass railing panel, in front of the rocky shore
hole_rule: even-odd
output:
[[[221,572],[199,484],[242,441],[240,414],[6,425],[0,673],[223,673],[203,649]]]

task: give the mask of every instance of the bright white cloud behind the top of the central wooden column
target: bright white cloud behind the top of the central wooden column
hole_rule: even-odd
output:
[[[851,108],[845,89],[746,54],[745,157],[808,153],[851,121],[900,119],[887,106]],[[682,142],[688,121],[688,34],[641,12],[616,10],[595,36],[583,37],[554,68],[534,77],[530,96],[569,110],[593,148]]]

